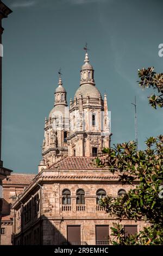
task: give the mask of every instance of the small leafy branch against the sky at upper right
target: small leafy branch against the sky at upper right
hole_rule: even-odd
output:
[[[139,86],[142,89],[152,87],[156,90],[158,95],[153,94],[149,96],[149,104],[154,108],[157,106],[163,107],[163,73],[156,74],[153,70],[153,67],[138,70],[138,76],[140,78],[140,81],[138,81]]]

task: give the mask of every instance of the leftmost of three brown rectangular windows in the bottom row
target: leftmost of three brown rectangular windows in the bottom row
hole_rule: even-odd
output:
[[[67,241],[70,245],[80,245],[80,226],[67,226]]]

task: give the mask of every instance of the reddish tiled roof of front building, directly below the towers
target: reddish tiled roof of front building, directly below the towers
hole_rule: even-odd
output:
[[[99,170],[99,168],[92,163],[92,160],[95,158],[96,157],[67,156],[58,161],[58,163],[52,164],[49,168],[62,170]]]

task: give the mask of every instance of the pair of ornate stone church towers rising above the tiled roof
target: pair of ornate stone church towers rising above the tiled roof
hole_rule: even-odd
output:
[[[45,118],[40,168],[51,166],[63,156],[97,156],[110,147],[110,120],[104,100],[95,86],[94,70],[87,52],[80,71],[80,86],[67,105],[66,90],[59,77],[54,108]]]

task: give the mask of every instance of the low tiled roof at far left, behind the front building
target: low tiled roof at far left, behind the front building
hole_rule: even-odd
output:
[[[28,185],[35,176],[35,174],[12,173],[3,180],[3,185]]]

